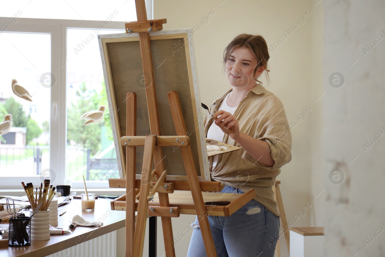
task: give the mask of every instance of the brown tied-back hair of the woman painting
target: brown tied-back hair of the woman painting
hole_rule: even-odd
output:
[[[266,40],[264,40],[264,38],[261,35],[251,35],[246,33],[236,36],[226,46],[223,52],[223,67],[225,67],[226,61],[230,58],[230,54],[237,47],[248,48],[254,54],[254,57],[257,59],[258,63],[254,69],[253,77],[255,76],[255,73],[261,66],[263,66],[266,71],[269,71],[267,69],[267,62],[270,56],[269,56],[269,50],[267,48]],[[267,72],[266,72],[266,79],[269,81],[269,75]],[[255,80],[258,81],[259,83],[262,83],[258,79],[255,79]]]

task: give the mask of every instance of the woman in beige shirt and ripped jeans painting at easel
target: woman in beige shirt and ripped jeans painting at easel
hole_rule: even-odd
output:
[[[208,216],[215,248],[218,256],[273,257],[280,214],[272,186],[280,167],[291,160],[289,124],[280,99],[258,81],[269,60],[261,35],[238,35],[227,45],[223,60],[232,89],[211,105],[218,119],[206,116],[205,133],[242,149],[210,158],[211,178],[225,184],[223,193],[254,190],[255,197],[230,217]],[[206,256],[198,217],[191,225],[187,256]]]

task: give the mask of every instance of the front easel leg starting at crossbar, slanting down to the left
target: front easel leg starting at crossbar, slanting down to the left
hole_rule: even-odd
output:
[[[146,233],[146,220],[148,215],[147,196],[150,191],[150,182],[152,179],[151,170],[155,139],[156,136],[146,136],[146,140],[144,141],[141,190],[139,191],[139,203],[132,251],[132,255],[134,257],[142,257],[143,255],[144,234]]]

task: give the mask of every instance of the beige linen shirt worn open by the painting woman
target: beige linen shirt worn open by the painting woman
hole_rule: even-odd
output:
[[[211,113],[218,111],[230,91],[232,89],[211,104]],[[253,199],[280,217],[272,186],[275,185],[276,176],[281,173],[280,168],[291,160],[291,133],[282,102],[258,83],[239,103],[234,116],[239,121],[241,132],[269,144],[275,163],[272,167],[266,166],[240,149],[219,155],[218,163],[211,171],[211,178],[243,192],[254,189]],[[207,115],[204,119],[206,135],[212,122],[213,118]],[[224,134],[223,143],[241,147],[227,134]],[[210,166],[211,163],[212,157],[209,158]]]

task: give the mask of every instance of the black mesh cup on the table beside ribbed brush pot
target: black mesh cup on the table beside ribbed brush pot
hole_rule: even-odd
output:
[[[31,245],[31,217],[9,219],[8,246]]]

